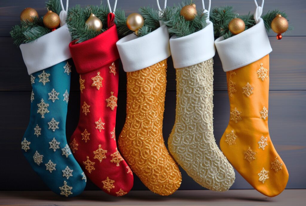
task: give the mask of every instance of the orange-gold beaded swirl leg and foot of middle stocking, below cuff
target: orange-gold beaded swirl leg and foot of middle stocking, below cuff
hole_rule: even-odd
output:
[[[119,149],[133,172],[152,192],[170,195],[181,173],[162,137],[167,60],[127,73],[127,106]]]

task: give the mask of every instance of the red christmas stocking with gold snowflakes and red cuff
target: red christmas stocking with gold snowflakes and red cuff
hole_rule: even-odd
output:
[[[117,150],[115,137],[118,58],[117,28],[109,14],[108,29],[69,48],[80,74],[80,120],[70,147],[86,176],[110,195],[122,196],[133,186],[133,174]]]

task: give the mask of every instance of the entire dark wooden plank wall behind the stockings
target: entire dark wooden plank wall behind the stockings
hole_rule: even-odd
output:
[[[28,125],[30,113],[31,84],[23,63],[20,49],[13,45],[9,36],[11,27],[19,23],[19,14],[25,7],[38,10],[39,15],[46,11],[47,0],[2,0],[0,1],[0,190],[45,190],[37,174],[31,169],[21,152],[21,138]],[[106,2],[106,1],[104,1]],[[114,2],[114,1],[111,1]],[[163,4],[163,1],[160,1]],[[168,5],[179,3],[169,0]],[[194,1],[198,8],[201,1]],[[205,1],[207,2],[207,1]],[[76,4],[99,4],[98,0],[70,0],[69,6]],[[213,0],[212,6],[233,5],[239,14],[254,11],[253,0]],[[118,7],[127,13],[136,12],[140,6],[154,5],[155,0],[119,0]],[[268,0],[263,13],[271,9],[286,10],[292,32],[278,41],[275,34],[269,36],[273,52],[270,54],[270,99],[269,131],[278,153],[289,170],[287,188],[306,188],[306,19],[304,0]],[[229,102],[226,77],[216,54],[214,65],[214,129],[217,143],[229,120]],[[120,68],[116,134],[120,133],[125,122],[126,76]],[[168,59],[167,92],[164,114],[163,135],[167,140],[175,117],[175,70],[171,58]],[[69,96],[67,138],[73,133],[79,117],[79,83],[75,71],[72,73]],[[167,142],[167,141],[166,141]],[[183,171],[180,189],[202,189]],[[232,189],[252,188],[237,172]],[[86,189],[98,189],[88,181]],[[135,178],[133,189],[146,189]]]

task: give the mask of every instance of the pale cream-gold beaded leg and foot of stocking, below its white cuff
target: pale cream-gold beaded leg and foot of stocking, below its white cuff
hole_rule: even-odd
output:
[[[213,59],[176,69],[175,123],[168,139],[170,153],[197,183],[226,191],[235,180],[233,167],[213,134]]]

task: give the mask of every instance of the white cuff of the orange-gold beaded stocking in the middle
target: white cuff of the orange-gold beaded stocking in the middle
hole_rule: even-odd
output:
[[[171,55],[169,33],[165,25],[139,38],[135,34],[125,36],[116,45],[125,72],[147,68]]]

